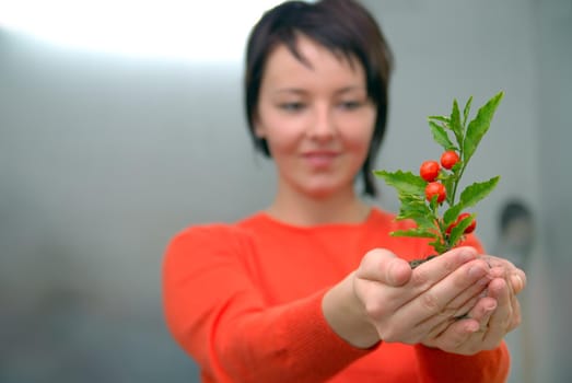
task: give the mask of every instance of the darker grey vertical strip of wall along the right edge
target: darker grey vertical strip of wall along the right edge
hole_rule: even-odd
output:
[[[547,360],[546,374],[551,376],[552,382],[570,382],[572,336],[568,326],[572,314],[572,282],[569,275],[572,267],[572,1],[538,0],[534,11],[537,31],[536,61],[539,68],[536,77],[539,113],[535,121],[540,149],[537,182],[541,185],[541,232],[546,249],[546,262],[542,264],[546,272],[538,283],[547,286],[549,291],[546,301],[538,302],[538,306],[546,309],[542,311],[551,320],[548,328],[539,327],[546,334],[539,345],[542,347],[540,352],[544,352]]]

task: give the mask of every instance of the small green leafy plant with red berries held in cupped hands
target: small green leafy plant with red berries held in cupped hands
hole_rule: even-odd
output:
[[[499,183],[500,176],[474,183],[462,192],[459,183],[469,160],[489,130],[503,95],[503,92],[499,92],[490,98],[470,121],[472,97],[465,104],[463,114],[454,100],[450,116],[430,116],[433,139],[443,148],[443,153],[439,163],[423,162],[419,175],[401,170],[374,172],[397,190],[400,208],[396,219],[411,219],[417,223],[412,229],[398,230],[392,232],[392,235],[431,239],[430,244],[439,255],[457,246],[465,234],[475,231],[476,214],[465,210],[487,197]],[[413,260],[411,267],[419,263]]]

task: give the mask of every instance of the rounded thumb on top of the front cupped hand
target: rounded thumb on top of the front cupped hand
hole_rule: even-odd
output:
[[[409,281],[411,267],[394,253],[384,248],[375,248],[365,254],[357,276],[358,278],[399,287]]]

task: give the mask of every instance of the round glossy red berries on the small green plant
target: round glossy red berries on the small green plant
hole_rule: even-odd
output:
[[[452,170],[458,161],[459,156],[457,152],[454,150],[447,150],[441,154],[441,164],[436,161],[425,161],[421,164],[419,174],[421,175],[421,178],[428,182],[425,186],[425,198],[428,201],[433,200],[433,197],[436,196],[437,204],[443,204],[447,196],[447,190],[441,182],[436,181],[439,173],[441,172],[441,166],[446,170]],[[468,212],[459,214],[457,220],[447,228],[447,234],[451,233],[451,230],[453,230],[455,225],[468,216],[470,216]],[[474,232],[476,227],[477,222],[472,220],[470,225],[465,229],[465,233],[468,234]]]

